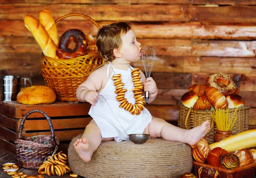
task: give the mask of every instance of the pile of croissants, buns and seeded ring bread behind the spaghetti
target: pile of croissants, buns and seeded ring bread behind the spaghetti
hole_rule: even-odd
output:
[[[189,92],[181,97],[181,103],[195,110],[210,110],[211,107],[237,108],[245,105],[236,84],[224,73],[209,75],[205,84],[193,84],[188,89]]]

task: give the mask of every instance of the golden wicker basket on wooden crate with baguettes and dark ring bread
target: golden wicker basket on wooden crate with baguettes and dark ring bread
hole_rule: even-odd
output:
[[[91,35],[85,35],[79,29],[70,29],[58,40],[56,23],[70,16],[84,17],[100,28],[95,20],[84,14],[67,14],[54,21],[47,9],[40,11],[39,19],[32,15],[24,18],[26,28],[33,34],[43,52],[41,74],[45,84],[56,92],[60,101],[78,101],[77,87],[103,63],[96,39]]]

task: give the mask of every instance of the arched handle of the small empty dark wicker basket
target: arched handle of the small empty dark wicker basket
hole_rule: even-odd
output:
[[[22,130],[23,130],[23,126],[24,126],[24,123],[25,123],[25,120],[26,118],[32,114],[32,113],[35,113],[35,112],[39,112],[41,113],[42,115],[44,115],[44,117],[47,119],[48,123],[49,123],[49,126],[50,126],[50,129],[51,129],[51,142],[52,142],[52,146],[56,146],[57,145],[57,142],[55,140],[55,133],[54,133],[54,128],[53,128],[53,125],[52,125],[52,121],[51,119],[49,118],[49,116],[42,110],[40,109],[32,109],[30,110],[29,112],[26,113],[26,115],[23,116],[21,122],[20,122],[20,128],[19,128],[19,139],[22,139],[23,138],[23,135],[22,135]]]

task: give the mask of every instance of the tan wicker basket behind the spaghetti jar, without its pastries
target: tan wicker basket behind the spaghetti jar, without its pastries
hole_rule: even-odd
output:
[[[249,109],[250,106],[241,106],[237,109],[235,115],[237,116],[237,120],[232,128],[232,135],[236,135],[237,133],[244,132],[249,129]],[[235,110],[236,109],[229,109],[230,117],[233,116]],[[180,128],[192,129],[207,120],[211,122],[211,128],[204,138],[207,140],[208,144],[212,144],[214,143],[213,137],[217,130],[217,126],[208,111],[195,110],[192,108],[189,109],[183,104],[180,105],[180,112],[178,116],[178,126]]]

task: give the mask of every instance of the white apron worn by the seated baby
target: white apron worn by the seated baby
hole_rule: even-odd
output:
[[[99,126],[99,129],[102,132],[102,138],[113,137],[117,142],[122,140],[128,141],[129,138],[125,131],[128,135],[143,133],[146,126],[151,122],[152,116],[146,108],[141,111],[140,115],[132,115],[131,112],[126,111],[124,108],[119,108],[120,103],[119,101],[116,101],[116,89],[113,85],[114,81],[111,78],[114,74],[122,75],[122,82],[125,83],[123,89],[127,89],[125,98],[127,98],[129,103],[135,104],[134,93],[132,92],[134,86],[131,77],[131,70],[133,68],[130,66],[128,70],[125,71],[116,69],[112,64],[108,64],[106,78],[108,78],[110,66],[113,68],[110,79],[104,89],[99,92],[99,99],[95,103],[96,106],[92,105],[88,114],[96,122],[97,126]],[[102,98],[101,95],[105,99]],[[108,103],[105,100],[107,100]]]

